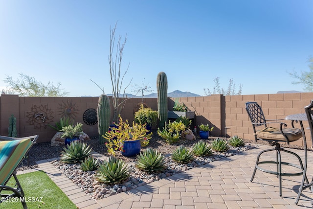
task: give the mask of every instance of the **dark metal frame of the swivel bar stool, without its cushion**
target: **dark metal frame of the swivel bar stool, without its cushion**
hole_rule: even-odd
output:
[[[259,126],[268,127],[270,124],[280,123],[279,130],[280,130],[281,134],[284,136],[284,138],[286,139],[285,142],[287,142],[287,144],[289,144],[290,139],[284,133],[284,128],[283,128],[283,127],[287,127],[287,124],[278,121],[278,120],[284,120],[284,119],[267,120],[264,116],[264,113],[262,111],[261,106],[257,102],[246,102],[246,111],[247,111],[248,116],[252,122],[254,136],[255,136],[255,142],[257,142],[257,140],[265,140],[265,141],[268,141],[271,146],[275,146],[275,148],[263,150],[258,154],[256,163],[255,163],[255,168],[254,168],[254,171],[253,171],[253,174],[252,174],[250,181],[251,182],[253,181],[256,170],[261,170],[261,171],[266,172],[266,173],[274,174],[277,176],[277,178],[279,178],[279,195],[282,196],[282,176],[300,176],[300,175],[303,175],[304,167],[303,167],[302,160],[296,153],[282,148],[280,146],[280,143],[279,143],[279,141],[282,142],[282,140],[259,138],[256,134],[257,133],[256,127],[259,127]],[[292,121],[291,126],[293,129],[295,129],[293,122],[294,121]],[[301,131],[300,129],[295,129],[295,130]],[[260,161],[261,155],[266,153],[266,152],[270,152],[270,151],[276,151],[276,161]],[[288,162],[282,162],[281,152],[286,152],[286,153],[289,153],[291,155],[294,155],[299,160],[299,165],[293,164],[293,163],[288,163]],[[266,164],[266,163],[276,164],[276,170],[275,171],[268,170],[268,169],[265,169],[265,168],[262,168],[261,166],[259,166],[260,164]],[[282,165],[293,166],[293,167],[299,168],[301,171],[296,172],[296,173],[282,173]],[[306,180],[306,182],[308,182],[308,179],[306,177],[305,177],[305,180]]]

